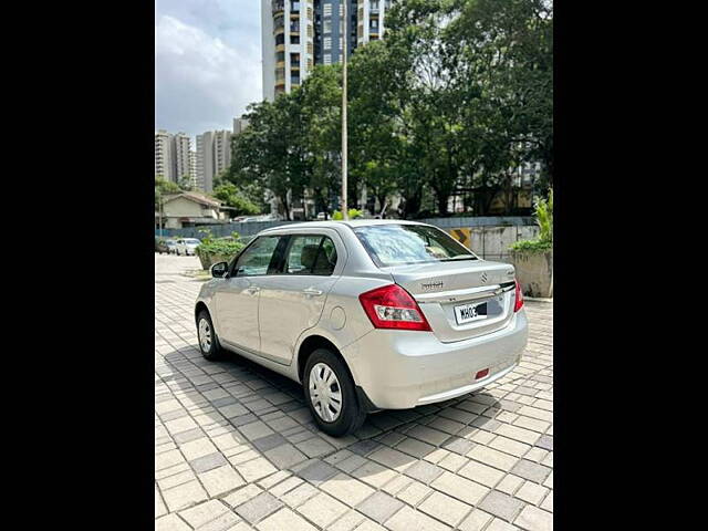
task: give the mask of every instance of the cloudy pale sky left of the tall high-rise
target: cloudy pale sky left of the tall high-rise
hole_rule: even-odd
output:
[[[260,27],[259,0],[155,0],[155,129],[231,129],[262,98]]]

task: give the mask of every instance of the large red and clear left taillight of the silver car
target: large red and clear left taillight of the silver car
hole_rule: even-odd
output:
[[[398,284],[367,291],[358,300],[376,329],[430,331],[418,303]]]

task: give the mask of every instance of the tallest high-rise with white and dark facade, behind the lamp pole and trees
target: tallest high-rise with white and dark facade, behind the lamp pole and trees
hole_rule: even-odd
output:
[[[342,61],[344,1],[351,54],[383,37],[391,0],[261,0],[264,100],[299,86],[315,64]]]

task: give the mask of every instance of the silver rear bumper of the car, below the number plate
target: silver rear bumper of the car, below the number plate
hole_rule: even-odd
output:
[[[430,332],[373,330],[342,350],[354,381],[376,408],[405,409],[442,402],[501,378],[521,360],[528,321],[471,340],[441,343]],[[476,379],[479,371],[487,376]]]

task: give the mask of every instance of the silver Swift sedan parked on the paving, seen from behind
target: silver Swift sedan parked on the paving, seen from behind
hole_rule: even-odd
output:
[[[320,428],[475,392],[527,344],[512,266],[440,229],[353,220],[261,231],[216,263],[195,306],[207,360],[228,350],[302,383]]]

